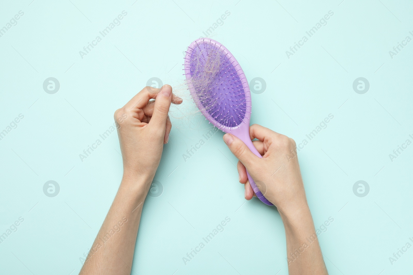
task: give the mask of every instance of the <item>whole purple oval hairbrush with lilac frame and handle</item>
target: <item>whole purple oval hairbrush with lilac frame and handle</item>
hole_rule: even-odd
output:
[[[188,47],[184,70],[192,98],[205,118],[223,132],[237,136],[252,153],[262,157],[249,137],[251,93],[247,78],[228,49],[210,38],[199,38]],[[256,196],[273,205],[248,172],[247,176]]]

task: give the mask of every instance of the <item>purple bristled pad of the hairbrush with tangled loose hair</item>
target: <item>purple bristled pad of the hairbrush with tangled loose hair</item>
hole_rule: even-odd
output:
[[[237,127],[247,112],[247,99],[236,61],[214,42],[202,40],[195,45],[188,48],[192,97],[209,119],[224,127]]]

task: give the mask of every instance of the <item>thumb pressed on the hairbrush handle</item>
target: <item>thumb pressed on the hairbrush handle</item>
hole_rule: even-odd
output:
[[[255,163],[259,160],[254,153],[249,150],[248,146],[232,134],[225,134],[223,136],[225,143],[231,150],[231,153],[237,157],[240,162],[247,168],[247,170],[254,169]]]

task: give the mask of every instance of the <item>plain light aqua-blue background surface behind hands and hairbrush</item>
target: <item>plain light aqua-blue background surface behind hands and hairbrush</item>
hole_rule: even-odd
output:
[[[24,12],[0,38],[0,131],[24,115],[0,141],[0,234],[24,218],[0,244],[1,274],[79,272],[122,175],[116,133],[83,162],[79,154],[150,78],[188,99],[183,51],[227,10],[210,36],[230,49],[248,80],[266,81],[265,92],[252,94],[253,123],[300,143],[334,115],[299,152],[316,228],[334,218],[319,236],[329,273],[412,272],[413,248],[389,261],[413,238],[413,146],[389,158],[413,134],[413,42],[389,55],[413,38],[411,2],[31,1],[0,8],[0,27]],[[79,51],[123,10],[121,24],[82,59]],[[288,59],[285,51],[330,10],[328,24]],[[43,90],[49,77],[60,82],[56,94]],[[358,77],[370,82],[366,94],[352,88]],[[164,191],[145,202],[132,274],[287,274],[280,216],[256,199],[245,202],[222,132],[183,160],[210,129],[193,110],[190,100],[172,108],[155,176]],[[59,183],[56,197],[43,193],[49,180]],[[370,186],[366,197],[353,193],[358,180]],[[225,230],[184,265],[182,257],[227,216]]]

